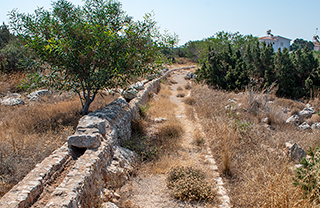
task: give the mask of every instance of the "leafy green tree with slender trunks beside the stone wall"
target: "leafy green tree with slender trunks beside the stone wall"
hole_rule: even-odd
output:
[[[134,21],[114,0],[86,0],[83,6],[58,0],[51,10],[13,10],[9,18],[13,31],[35,53],[38,69],[46,69],[38,70],[34,81],[76,92],[82,114],[88,113],[101,89],[153,73],[161,63],[161,47],[167,46],[168,38],[160,34],[151,14]]]

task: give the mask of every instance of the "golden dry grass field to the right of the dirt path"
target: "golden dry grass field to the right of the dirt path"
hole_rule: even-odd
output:
[[[284,123],[290,114],[280,109],[301,109],[301,103],[274,97],[273,103],[268,103],[270,98],[261,94],[254,94],[250,100],[250,93],[225,93],[205,86],[194,86],[192,96],[197,100],[195,108],[206,138],[212,139],[212,152],[234,207],[314,206],[293,185],[294,164],[283,150],[288,141],[304,149],[319,141],[318,131],[310,134]],[[229,103],[233,107],[226,109],[228,99],[233,98],[236,103]],[[274,131],[260,123],[265,116],[270,118]]]

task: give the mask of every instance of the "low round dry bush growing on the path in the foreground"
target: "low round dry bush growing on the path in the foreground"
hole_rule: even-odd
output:
[[[205,181],[204,173],[191,167],[173,169],[167,178],[167,186],[173,189],[174,197],[179,200],[212,200],[213,187]]]

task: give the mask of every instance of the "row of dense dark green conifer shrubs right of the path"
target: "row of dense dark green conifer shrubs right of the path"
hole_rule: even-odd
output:
[[[277,96],[299,99],[312,96],[320,87],[319,62],[306,45],[289,52],[274,52],[271,44],[257,39],[241,47],[230,39],[223,47],[208,47],[196,71],[198,80],[225,90],[243,90],[248,84],[258,89],[278,86]]]

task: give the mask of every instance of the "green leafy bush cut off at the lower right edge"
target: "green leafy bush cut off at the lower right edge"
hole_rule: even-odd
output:
[[[320,149],[309,148],[307,155],[300,162],[302,167],[295,169],[294,185],[300,186],[312,201],[320,203]]]

